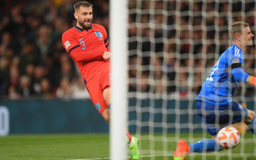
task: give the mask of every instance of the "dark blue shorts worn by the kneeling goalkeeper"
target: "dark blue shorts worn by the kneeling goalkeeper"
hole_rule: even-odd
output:
[[[236,122],[244,122],[248,110],[235,101],[227,105],[213,105],[204,101],[197,101],[197,115],[206,125],[208,133],[216,135],[223,127]]]

